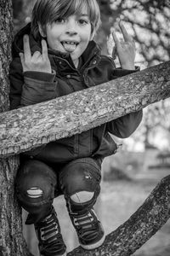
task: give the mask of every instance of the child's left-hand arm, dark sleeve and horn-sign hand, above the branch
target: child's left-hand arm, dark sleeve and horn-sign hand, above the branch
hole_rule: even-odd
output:
[[[25,40],[24,54],[15,58],[9,68],[11,109],[45,102],[57,96],[55,73],[51,73],[46,42],[42,43],[42,55],[36,52],[31,56],[29,40],[27,37]]]

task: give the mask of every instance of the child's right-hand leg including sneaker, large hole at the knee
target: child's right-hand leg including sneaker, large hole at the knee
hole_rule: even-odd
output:
[[[100,179],[100,167],[92,158],[73,160],[59,172],[72,224],[85,249],[99,247],[105,239],[93,209],[100,191]]]

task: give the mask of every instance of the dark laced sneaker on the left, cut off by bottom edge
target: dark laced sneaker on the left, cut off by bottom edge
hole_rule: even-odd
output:
[[[41,222],[35,224],[41,256],[65,256],[66,247],[60,233],[57,213],[52,208],[51,213]]]

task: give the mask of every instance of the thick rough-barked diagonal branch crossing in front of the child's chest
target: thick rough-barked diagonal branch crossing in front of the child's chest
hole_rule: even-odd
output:
[[[19,154],[44,143],[116,119],[170,96],[170,61],[0,115],[0,156]]]

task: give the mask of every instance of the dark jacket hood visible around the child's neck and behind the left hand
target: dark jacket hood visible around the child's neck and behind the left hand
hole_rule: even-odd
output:
[[[20,52],[24,52],[23,50],[23,37],[24,35],[29,35],[30,38],[30,47],[31,47],[31,54],[35,51],[42,52],[41,41],[37,41],[33,34],[31,33],[31,23],[28,23],[24,26],[14,37],[14,42],[12,44],[12,54],[14,57],[19,57]],[[88,62],[93,58],[94,55],[100,53],[99,45],[97,45],[94,41],[90,41],[88,44],[87,49],[82,54],[82,61],[86,60]],[[48,55],[56,55],[59,58],[66,59],[67,61],[71,62],[71,55],[69,53],[62,53],[58,50],[48,49]]]

